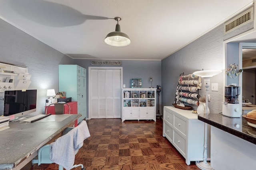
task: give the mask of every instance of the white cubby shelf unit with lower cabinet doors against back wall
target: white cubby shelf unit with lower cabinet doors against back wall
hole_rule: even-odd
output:
[[[156,121],[156,88],[122,88],[122,121]]]

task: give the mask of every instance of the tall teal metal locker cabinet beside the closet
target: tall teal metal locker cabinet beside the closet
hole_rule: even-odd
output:
[[[77,113],[82,116],[78,123],[87,118],[86,69],[75,64],[59,65],[59,91],[77,101]]]

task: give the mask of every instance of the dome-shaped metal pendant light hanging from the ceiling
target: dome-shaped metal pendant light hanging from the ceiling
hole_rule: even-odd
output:
[[[129,45],[131,43],[131,40],[129,39],[128,35],[121,32],[121,28],[118,23],[118,21],[120,21],[121,18],[115,17],[114,20],[117,21],[116,30],[114,32],[108,33],[104,40],[105,43],[116,47],[123,47]]]

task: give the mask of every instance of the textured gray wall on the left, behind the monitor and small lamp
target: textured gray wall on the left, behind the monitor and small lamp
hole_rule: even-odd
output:
[[[58,92],[58,64],[73,64],[70,57],[3,20],[0,20],[0,61],[28,67],[32,75],[29,89],[38,90],[38,113],[44,111],[47,89]]]

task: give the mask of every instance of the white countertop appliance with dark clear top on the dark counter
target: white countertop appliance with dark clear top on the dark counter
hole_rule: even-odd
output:
[[[238,103],[239,95],[239,86],[225,86],[225,102],[222,104],[222,115],[228,117],[241,117],[242,112],[240,104]]]

